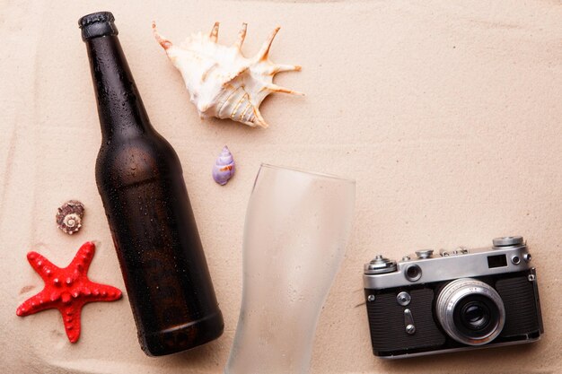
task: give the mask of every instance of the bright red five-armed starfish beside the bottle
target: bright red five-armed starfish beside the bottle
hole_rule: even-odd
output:
[[[63,317],[70,343],[80,337],[80,313],[87,302],[113,301],[121,298],[121,291],[106,284],[88,279],[95,245],[88,241],[78,249],[70,265],[60,268],[37,252],[27,254],[31,267],[40,274],[45,288],[18,307],[15,314],[28,316],[45,309],[58,309]]]

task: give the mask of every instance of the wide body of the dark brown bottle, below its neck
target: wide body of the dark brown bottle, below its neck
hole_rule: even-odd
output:
[[[205,344],[224,324],[180,161],[163,138],[147,137],[102,147],[96,182],[139,342],[162,355]]]

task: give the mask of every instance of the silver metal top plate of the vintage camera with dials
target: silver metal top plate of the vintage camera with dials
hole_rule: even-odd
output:
[[[531,254],[520,236],[496,238],[492,247],[432,249],[394,261],[377,255],[364,265],[364,288],[392,287],[442,282],[456,278],[505,274],[531,269]]]

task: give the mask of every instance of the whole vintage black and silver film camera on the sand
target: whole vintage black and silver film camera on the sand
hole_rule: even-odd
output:
[[[522,237],[416,251],[364,265],[373,353],[403,358],[530,343],[543,333],[537,274]]]

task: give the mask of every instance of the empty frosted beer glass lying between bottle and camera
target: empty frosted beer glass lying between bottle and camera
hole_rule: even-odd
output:
[[[355,181],[262,164],[243,243],[241,311],[226,374],[310,369],[322,304],[344,257]]]

